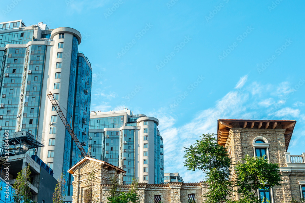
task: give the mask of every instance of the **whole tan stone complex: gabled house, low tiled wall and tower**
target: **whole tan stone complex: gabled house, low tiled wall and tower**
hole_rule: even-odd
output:
[[[282,174],[282,185],[259,190],[272,203],[288,203],[292,198],[300,200],[305,195],[305,153],[290,155],[287,152],[296,121],[294,120],[231,120],[219,119],[217,124],[218,143],[228,147],[228,155],[234,161],[242,161],[249,156],[265,155],[269,162],[278,163]],[[84,202],[84,192],[88,174],[95,171],[95,198],[97,202],[106,203],[110,189],[110,178],[117,170],[126,173],[105,161],[85,157],[68,170],[73,174],[73,203]],[[233,170],[233,175],[235,171]],[[129,185],[119,185],[121,191],[128,191]],[[203,194],[208,186],[204,182],[166,184],[139,183],[138,194],[141,203],[187,203],[195,200],[203,202]],[[238,195],[234,194],[234,199]]]

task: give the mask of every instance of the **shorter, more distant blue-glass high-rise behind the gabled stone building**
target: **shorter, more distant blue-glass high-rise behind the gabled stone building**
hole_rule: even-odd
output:
[[[163,139],[156,118],[124,111],[91,111],[89,145],[92,158],[124,169],[120,184],[163,183]]]

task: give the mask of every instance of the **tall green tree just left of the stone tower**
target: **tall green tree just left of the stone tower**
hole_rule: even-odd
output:
[[[231,166],[232,158],[228,157],[227,147],[217,143],[215,134],[200,136],[200,140],[189,148],[184,147],[186,158],[184,166],[187,170],[202,170],[206,173],[206,183],[209,184],[205,194],[207,203],[227,201],[232,195]]]

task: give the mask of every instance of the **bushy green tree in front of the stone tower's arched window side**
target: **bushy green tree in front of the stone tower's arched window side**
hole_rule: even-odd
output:
[[[281,174],[277,163],[268,163],[265,157],[249,157],[242,159],[244,163],[238,162],[235,165],[237,171],[236,186],[241,197],[240,203],[260,203],[257,198],[257,190],[281,185]]]

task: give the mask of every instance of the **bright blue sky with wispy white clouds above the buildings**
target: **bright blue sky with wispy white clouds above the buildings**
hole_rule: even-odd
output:
[[[126,105],[158,118],[164,172],[203,180],[186,171],[182,147],[216,133],[218,118],[296,120],[288,151],[305,152],[303,1],[15,0],[0,8],[1,22],[77,29],[92,63],[91,111]]]

